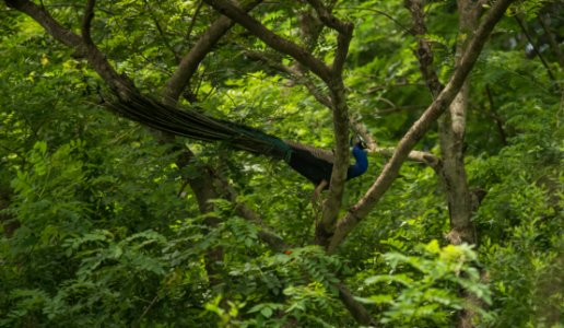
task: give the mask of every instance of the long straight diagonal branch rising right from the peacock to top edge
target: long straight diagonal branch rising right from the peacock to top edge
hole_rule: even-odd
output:
[[[410,151],[423,138],[423,136],[432,128],[433,122],[448,108],[458,91],[462,86],[466,78],[470,73],[475,60],[492,32],[495,24],[502,19],[506,9],[514,0],[496,1],[490,12],[484,17],[480,27],[468,45],[467,51],[463,54],[460,65],[456,68],[453,77],[438,94],[437,98],[423,113],[423,115],[411,126],[408,132],[398,143],[390,161],[384,166],[383,172],[376,181],[368,189],[366,195],[349,211],[348,214],[338,223],[334,235],[328,247],[329,253],[336,251],[337,247],[351,233],[354,227],[368,214],[376,206],[384,194],[397,178],[401,165],[407,160]]]

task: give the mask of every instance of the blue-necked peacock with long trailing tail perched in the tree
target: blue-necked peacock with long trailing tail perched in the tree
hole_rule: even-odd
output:
[[[131,95],[127,101],[115,102],[108,106],[118,114],[156,130],[200,141],[223,141],[236,150],[283,160],[314,183],[315,195],[329,186],[334,163],[331,151],[282,140],[256,128],[213,118],[193,109],[180,109],[141,95]],[[368,169],[365,142],[356,138],[352,143],[355,163],[349,166],[348,180]]]

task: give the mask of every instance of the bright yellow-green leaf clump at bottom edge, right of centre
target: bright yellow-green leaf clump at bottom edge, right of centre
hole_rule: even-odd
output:
[[[469,306],[459,291],[471,293],[486,304],[492,303],[490,290],[480,282],[479,270],[474,267],[477,254],[470,246],[439,247],[437,241],[432,241],[416,248],[420,254],[414,256],[384,254],[389,273],[365,280],[368,293],[380,291],[363,302],[384,306],[383,324],[449,327],[456,311]],[[481,308],[472,309],[482,315],[485,313]]]

